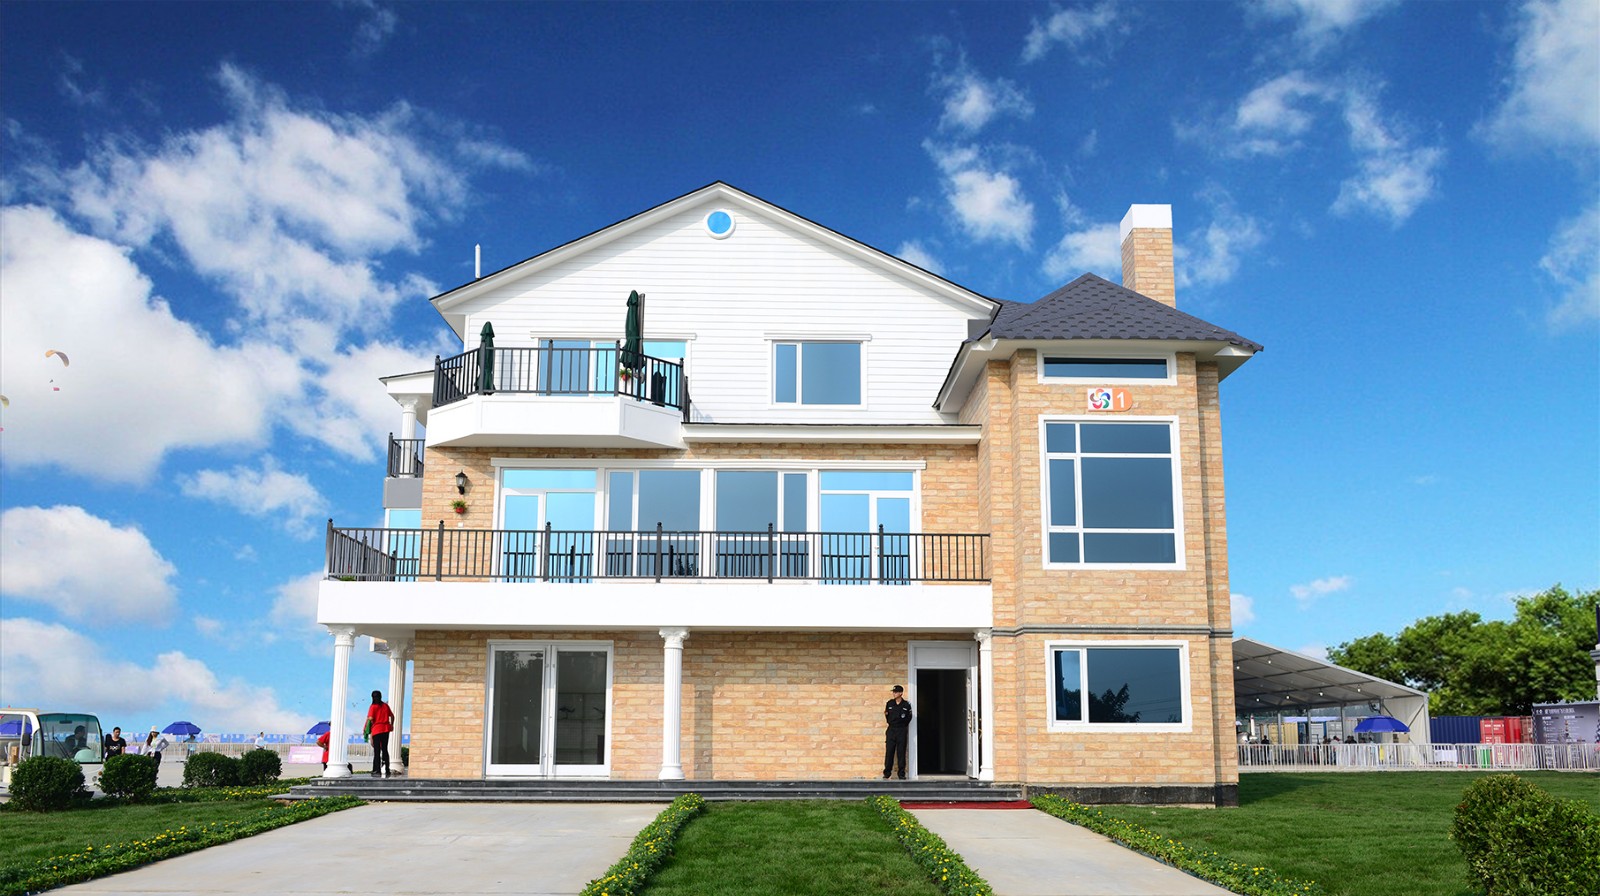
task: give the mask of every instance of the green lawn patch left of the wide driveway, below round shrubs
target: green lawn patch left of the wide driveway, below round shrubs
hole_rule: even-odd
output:
[[[59,813],[0,811],[0,867],[35,862],[67,853],[160,837],[179,827],[219,821],[248,821],[272,808],[272,800],[214,803],[155,803],[93,806]]]

